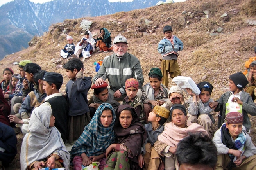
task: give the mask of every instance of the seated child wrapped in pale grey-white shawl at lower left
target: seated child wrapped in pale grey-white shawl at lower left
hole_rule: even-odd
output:
[[[21,169],[64,167],[68,170],[70,153],[66,150],[61,134],[54,127],[55,117],[52,115],[51,107],[34,109],[30,123],[21,145]]]

